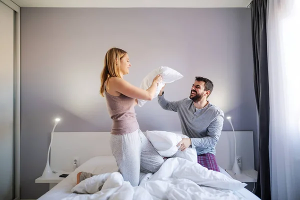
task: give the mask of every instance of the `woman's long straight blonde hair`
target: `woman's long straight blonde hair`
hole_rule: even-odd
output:
[[[127,52],[120,48],[110,48],[104,57],[104,66],[101,72],[101,86],[100,94],[104,96],[104,83],[106,81],[106,86],[108,87],[108,79],[110,77],[119,77],[120,75],[120,59]]]

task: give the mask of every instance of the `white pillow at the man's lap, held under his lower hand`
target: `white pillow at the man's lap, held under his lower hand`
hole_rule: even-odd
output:
[[[181,151],[177,146],[182,138],[188,138],[186,135],[162,130],[146,130],[145,136],[161,156],[181,157],[192,162],[197,162],[195,148],[188,147]]]

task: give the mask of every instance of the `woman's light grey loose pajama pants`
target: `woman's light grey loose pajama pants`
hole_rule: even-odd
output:
[[[140,129],[110,137],[110,148],[124,181],[137,186],[139,172],[155,173],[164,162]]]

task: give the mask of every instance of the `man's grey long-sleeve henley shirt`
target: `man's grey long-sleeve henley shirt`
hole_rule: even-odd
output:
[[[165,110],[178,113],[182,134],[191,139],[191,146],[196,148],[197,155],[212,153],[221,134],[224,112],[212,103],[198,109],[190,98],[178,101],[167,101],[163,94],[158,95],[158,103]]]

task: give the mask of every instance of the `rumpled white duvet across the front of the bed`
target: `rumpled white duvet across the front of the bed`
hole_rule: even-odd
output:
[[[139,186],[132,187],[119,172],[94,175],[75,185],[71,191],[83,193],[63,200],[91,199],[244,199],[237,191],[246,184],[223,173],[208,170],[198,163],[175,157],[167,159],[160,169],[145,174]]]

